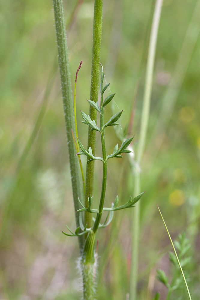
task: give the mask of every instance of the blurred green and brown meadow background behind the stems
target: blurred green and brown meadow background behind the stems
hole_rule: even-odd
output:
[[[80,123],[80,110],[88,113],[93,5],[91,0],[64,0],[72,88],[83,60],[76,102],[84,146],[88,128]],[[154,2],[110,0],[103,5],[101,64],[110,91],[116,93],[114,106],[105,115],[110,118],[112,110],[124,110],[121,128],[127,128],[140,74],[132,130],[137,151]],[[81,298],[77,239],[61,232],[65,223],[74,230],[75,220],[52,8],[47,0],[0,2],[0,298],[4,300]],[[193,299],[200,295],[199,13],[199,0],[163,2],[141,164],[141,189],[146,193],[141,199],[138,299],[151,299],[160,291],[164,300],[166,288],[155,278],[156,268],[171,276],[167,254],[171,247],[156,204],[172,238],[187,232],[193,256],[188,284]],[[113,128],[106,131],[106,142],[108,153],[120,143]],[[84,157],[82,161],[85,169]],[[97,162],[94,205],[101,173]],[[127,202],[133,195],[133,181],[126,155],[123,160],[110,160],[106,205],[116,193],[121,203]],[[97,299],[127,297],[132,218],[131,209],[116,212],[111,226],[98,233]],[[185,289],[179,295],[187,299]],[[178,294],[172,299],[178,299]]]

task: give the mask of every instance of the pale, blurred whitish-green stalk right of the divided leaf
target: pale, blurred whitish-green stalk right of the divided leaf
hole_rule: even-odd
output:
[[[139,146],[136,156],[136,163],[140,165],[142,155],[145,148],[145,141],[148,128],[152,80],[154,71],[155,52],[157,44],[157,34],[160,22],[160,14],[163,0],[157,0],[154,10],[154,17],[151,27],[150,43],[148,49],[148,61],[145,79],[145,92],[142,108],[141,128],[139,137]],[[140,172],[136,169],[136,178],[134,186],[134,194],[140,193]],[[136,300],[137,296],[137,275],[138,275],[138,249],[139,249],[139,216],[140,216],[140,203],[138,202],[133,211],[133,238],[132,238],[132,259],[130,269],[130,295],[129,300]]]

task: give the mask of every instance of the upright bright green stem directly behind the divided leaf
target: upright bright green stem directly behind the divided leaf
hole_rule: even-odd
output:
[[[101,51],[101,33],[102,33],[102,11],[103,0],[94,1],[94,21],[93,21],[93,44],[92,44],[92,69],[91,69],[91,88],[90,100],[98,101],[99,91],[99,67]],[[89,116],[97,122],[97,111],[90,106]],[[88,149],[91,147],[93,155],[96,148],[96,131],[88,129]],[[88,208],[88,196],[93,194],[94,187],[94,161],[87,164],[85,177],[85,207]],[[88,228],[92,226],[92,216],[85,212],[85,224]]]

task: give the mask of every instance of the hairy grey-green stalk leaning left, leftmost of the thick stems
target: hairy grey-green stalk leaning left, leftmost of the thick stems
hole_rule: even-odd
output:
[[[55,31],[58,46],[58,62],[60,68],[61,90],[64,107],[64,118],[67,132],[67,145],[69,150],[70,172],[73,189],[73,201],[75,211],[79,209],[79,199],[84,199],[83,184],[79,167],[78,157],[73,142],[71,130],[75,134],[73,97],[71,90],[70,67],[67,50],[67,37],[65,32],[65,21],[62,0],[53,0],[54,15],[55,15]],[[75,137],[76,138],[76,137]],[[76,226],[79,226],[79,213],[76,213]],[[79,247],[83,246],[84,237],[79,236]]]

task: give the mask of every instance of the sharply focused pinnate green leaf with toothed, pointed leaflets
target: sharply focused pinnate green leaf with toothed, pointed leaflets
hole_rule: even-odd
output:
[[[82,117],[84,119],[84,121],[82,121],[82,123],[85,123],[87,124],[89,127],[91,127],[91,130],[96,130],[96,131],[99,131],[100,134],[101,134],[101,142],[102,142],[102,153],[103,153],[103,157],[95,157],[93,154],[92,154],[92,149],[91,147],[89,147],[88,151],[84,148],[84,146],[82,145],[82,143],[78,140],[78,143],[79,143],[79,146],[80,146],[80,149],[82,151],[78,152],[76,155],[86,155],[90,158],[90,160],[87,161],[87,163],[90,163],[91,161],[93,160],[96,160],[96,161],[102,161],[103,162],[103,166],[105,167],[104,169],[104,173],[106,173],[107,171],[107,160],[109,158],[114,158],[114,157],[117,157],[117,158],[122,158],[122,155],[120,155],[121,153],[130,153],[132,151],[128,150],[127,147],[130,145],[130,143],[132,142],[133,140],[133,137],[130,137],[129,139],[127,140],[124,140],[121,144],[121,147],[118,149],[118,144],[115,146],[114,148],[114,151],[111,155],[106,155],[106,148],[105,148],[105,131],[104,131],[104,128],[107,127],[107,126],[114,126],[114,125],[118,125],[115,123],[115,121],[117,121],[119,119],[119,117],[121,116],[122,114],[122,111],[115,114],[114,116],[112,116],[112,118],[106,123],[106,124],[103,124],[103,120],[104,120],[104,107],[109,104],[109,102],[113,99],[113,97],[115,96],[115,94],[112,94],[110,96],[108,96],[105,101],[103,102],[103,93],[106,91],[106,88],[109,86],[109,84],[105,85],[103,87],[103,78],[104,78],[104,71],[103,71],[103,66],[101,66],[102,68],[102,71],[101,71],[101,84],[100,84],[100,92],[101,92],[101,104],[100,104],[100,107],[99,107],[99,104],[98,102],[95,103],[94,101],[88,101],[92,107],[95,108],[95,110],[97,110],[99,113],[100,113],[100,128],[97,127],[96,123],[94,120],[91,120],[90,116],[86,115],[85,113],[83,113],[81,111],[81,114],[82,114]],[[104,175],[105,175],[104,174]],[[105,184],[103,184],[102,186],[102,190],[105,190],[106,189],[106,176],[103,175],[103,180],[105,182]],[[144,193],[144,192],[143,192]],[[103,211],[109,211],[109,212],[113,212],[113,211],[116,211],[116,210],[120,210],[120,209],[124,209],[124,208],[131,208],[131,207],[134,207],[134,204],[136,202],[139,201],[139,199],[142,197],[143,193],[140,193],[138,196],[136,196],[135,198],[132,198],[130,196],[130,199],[127,203],[125,203],[124,205],[121,205],[119,207],[118,206],[118,202],[119,202],[119,198],[118,196],[116,196],[115,198],[115,201],[114,201],[114,204],[112,203],[112,206],[110,208],[107,208],[107,207],[103,207],[103,202],[104,202],[104,197],[101,197],[100,199],[100,204],[99,204],[99,209],[92,209],[92,202],[93,202],[93,196],[89,194],[88,196],[88,207],[86,208],[83,203],[80,201],[79,199],[79,203],[81,204],[82,208],[78,209],[76,212],[79,212],[79,213],[82,213],[82,212],[88,212],[88,213],[97,213],[97,217],[96,219],[93,218],[94,220],[94,224],[97,223],[96,225],[96,228],[102,228],[102,227],[106,227],[108,226],[111,221],[112,221],[112,218],[113,218],[113,213],[112,214],[109,214],[107,215],[106,217],[106,220],[104,221],[103,224],[100,224],[100,218],[99,218],[99,215],[101,216],[102,212]],[[82,218],[81,214],[80,214],[80,218]],[[98,221],[97,221],[97,218],[98,218]],[[82,223],[82,221],[81,221]],[[67,229],[68,226],[67,226]],[[82,229],[82,232],[79,233],[79,229]],[[68,236],[79,236],[79,235],[82,235],[84,233],[87,233],[87,232],[92,232],[91,229],[87,229],[87,224],[85,225],[85,227],[83,226],[78,226],[76,228],[76,231],[75,233],[73,233],[71,230],[71,235],[70,234],[66,234],[64,233],[65,235],[68,235]]]

